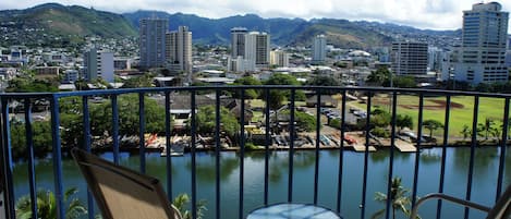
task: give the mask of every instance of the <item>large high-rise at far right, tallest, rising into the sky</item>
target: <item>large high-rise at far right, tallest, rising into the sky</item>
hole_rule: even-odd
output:
[[[476,3],[463,11],[462,44],[452,64],[457,81],[472,84],[507,82],[506,44],[509,13],[497,2]],[[448,75],[442,74],[446,80]]]

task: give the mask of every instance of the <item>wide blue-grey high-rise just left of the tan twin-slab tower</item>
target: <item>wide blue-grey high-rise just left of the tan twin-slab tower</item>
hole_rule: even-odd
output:
[[[169,21],[166,19],[142,19],[139,21],[139,65],[142,68],[165,66],[168,26]]]

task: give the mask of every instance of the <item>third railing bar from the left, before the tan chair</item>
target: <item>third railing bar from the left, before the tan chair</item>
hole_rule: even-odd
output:
[[[52,151],[53,151],[53,175],[54,175],[54,197],[57,202],[57,218],[65,217],[65,209],[63,203],[63,185],[62,185],[62,153],[60,143],[60,113],[59,113],[59,98],[53,96],[50,100],[51,108],[51,137],[52,137]]]

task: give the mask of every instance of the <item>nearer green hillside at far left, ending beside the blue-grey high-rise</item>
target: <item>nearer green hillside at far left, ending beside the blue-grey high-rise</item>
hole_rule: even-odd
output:
[[[85,36],[119,38],[136,36],[137,31],[122,15],[57,3],[40,4],[26,10],[0,12],[1,26],[20,32],[21,39],[31,42],[29,36],[61,37],[62,40],[80,40]],[[12,31],[11,29],[11,31]]]

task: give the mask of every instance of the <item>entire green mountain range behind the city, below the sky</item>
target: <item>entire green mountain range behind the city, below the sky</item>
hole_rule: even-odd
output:
[[[328,44],[340,48],[387,46],[397,39],[419,39],[435,44],[439,38],[457,38],[461,35],[461,31],[437,32],[365,21],[263,19],[255,14],[207,19],[194,14],[142,10],[117,14],[58,3],[40,4],[25,10],[0,11],[0,31],[2,35],[12,33],[20,35],[19,38],[8,37],[4,44],[10,40],[11,44],[41,40],[40,37],[29,37],[29,32],[38,32],[39,36],[51,36],[51,39],[57,37],[72,44],[73,39],[80,40],[85,36],[95,35],[107,38],[136,37],[138,21],[155,16],[168,19],[169,29],[177,29],[182,25],[188,26],[193,33],[194,44],[204,45],[228,45],[230,29],[238,26],[246,27],[248,31],[267,32],[271,35],[271,42],[279,46],[309,46],[313,37],[319,34],[327,36]]]

